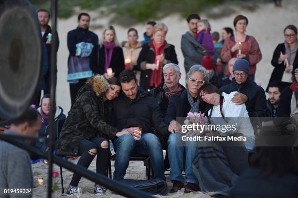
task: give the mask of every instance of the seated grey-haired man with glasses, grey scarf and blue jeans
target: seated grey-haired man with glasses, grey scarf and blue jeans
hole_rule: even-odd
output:
[[[201,65],[194,65],[186,73],[187,89],[170,98],[165,122],[169,124],[168,130],[168,159],[170,163],[170,180],[173,187],[170,193],[177,192],[184,187],[182,171],[184,167],[185,150],[185,193],[199,191],[198,180],[192,172],[192,161],[196,152],[196,141],[182,141],[181,125],[176,121],[177,117],[186,117],[189,111],[205,112],[209,106],[199,100],[199,89],[208,82],[208,74]]]

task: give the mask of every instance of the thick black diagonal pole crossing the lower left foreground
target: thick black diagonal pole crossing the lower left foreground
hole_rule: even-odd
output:
[[[24,150],[27,150],[37,156],[40,156],[42,158],[48,159],[48,157],[49,157],[47,152],[41,151],[33,146],[25,144],[24,142],[16,141],[12,138],[11,135],[0,134],[0,139],[4,140],[10,144],[14,144],[14,145],[16,145]],[[130,186],[125,185],[124,183],[121,183],[116,180],[111,180],[108,177],[106,177],[105,175],[94,173],[94,172],[86,169],[83,166],[75,165],[72,162],[68,162],[61,157],[53,156],[52,159],[53,159],[52,162],[55,162],[57,165],[60,165],[72,172],[78,173],[78,174],[82,175],[82,177],[84,177],[88,180],[99,183],[99,184],[105,186],[106,188],[112,190],[113,192],[118,193],[121,196],[125,196],[128,198],[155,198],[154,196],[151,196],[143,191],[131,188]],[[52,178],[52,175],[51,175],[51,178]],[[48,196],[49,196],[49,194],[48,194]]]

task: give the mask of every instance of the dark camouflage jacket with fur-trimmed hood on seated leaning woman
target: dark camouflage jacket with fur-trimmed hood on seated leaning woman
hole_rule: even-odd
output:
[[[77,93],[56,147],[58,155],[78,155],[81,140],[94,137],[114,139],[118,132],[109,123],[112,107],[105,106],[103,94],[109,88],[103,76],[90,78]]]

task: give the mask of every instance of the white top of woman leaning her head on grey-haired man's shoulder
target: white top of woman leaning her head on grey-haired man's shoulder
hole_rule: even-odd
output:
[[[236,105],[231,101],[231,99],[234,97],[234,94],[238,93],[237,91],[231,92],[230,94],[227,93],[222,93],[223,95],[223,116],[225,120],[228,123],[223,123],[221,124],[226,124],[226,125],[236,125],[236,129],[238,133],[242,133],[244,137],[246,137],[247,141],[244,141],[245,147],[250,150],[254,147],[254,140],[255,140],[255,134],[254,134],[254,129],[253,126],[250,123],[250,119],[248,116],[248,112],[246,110],[245,104],[242,105]],[[210,115],[211,109],[208,111],[208,115]],[[221,114],[220,110],[220,105],[213,106],[212,110],[212,118],[221,118],[223,117]],[[212,123],[211,119],[211,124],[220,124],[217,123],[219,122],[217,119],[214,119]],[[221,131],[220,131],[221,132]],[[228,135],[228,133],[223,133],[221,132],[221,135]]]

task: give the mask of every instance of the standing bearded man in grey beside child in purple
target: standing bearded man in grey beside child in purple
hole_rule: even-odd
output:
[[[189,30],[181,37],[181,50],[186,73],[191,66],[201,64],[203,56],[207,55],[205,48],[196,41],[197,24],[200,19],[198,14],[190,14],[186,19]]]

